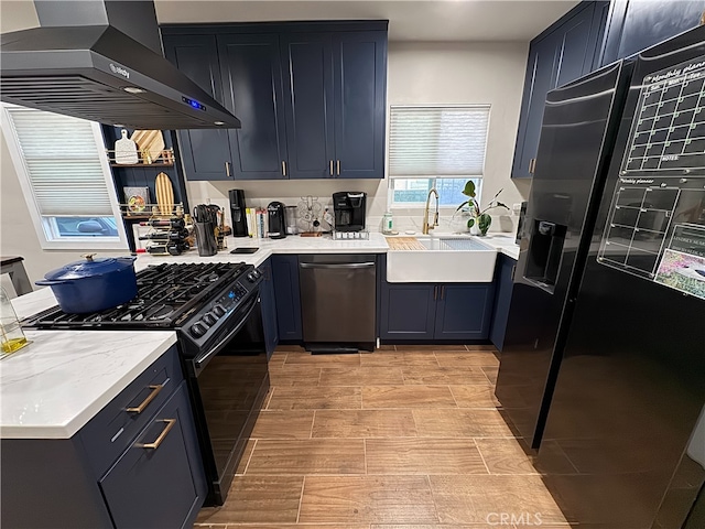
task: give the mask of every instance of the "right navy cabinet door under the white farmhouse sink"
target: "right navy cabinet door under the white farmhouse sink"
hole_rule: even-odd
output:
[[[438,287],[434,337],[486,339],[492,317],[492,283]]]

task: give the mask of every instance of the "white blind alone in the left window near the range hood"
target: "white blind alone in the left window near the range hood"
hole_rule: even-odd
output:
[[[42,216],[112,216],[90,121],[8,108]]]

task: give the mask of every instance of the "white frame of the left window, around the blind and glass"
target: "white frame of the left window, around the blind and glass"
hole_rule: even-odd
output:
[[[124,228],[124,223],[122,222],[122,214],[120,212],[120,205],[118,201],[118,195],[115,188],[115,182],[112,180],[112,171],[110,169],[110,164],[108,163],[108,158],[100,155],[100,153],[106,152],[105,139],[102,137],[102,131],[100,129],[100,123],[96,121],[88,121],[90,123],[93,130],[93,137],[96,142],[96,149],[98,151],[98,158],[100,162],[100,169],[104,176],[104,181],[106,184],[106,188],[108,192],[108,196],[110,198],[110,207],[112,210],[112,217],[115,218],[115,223],[118,229],[118,236],[64,236],[56,235],[57,230],[55,230],[55,218],[56,216],[42,216],[39,203],[36,201],[36,196],[34,194],[34,188],[32,186],[32,181],[30,179],[30,173],[26,166],[26,161],[22,154],[21,147],[19,144],[19,139],[14,131],[14,127],[12,125],[11,118],[9,116],[9,109],[11,108],[22,108],[19,105],[12,105],[8,102],[2,102],[2,110],[0,112],[0,121],[2,126],[2,133],[6,138],[6,142],[8,144],[8,149],[10,151],[10,158],[12,159],[12,163],[14,165],[14,170],[18,174],[18,180],[20,181],[20,187],[22,188],[22,194],[24,195],[24,202],[26,203],[28,210],[30,213],[30,218],[32,220],[32,225],[34,230],[36,231],[36,236],[40,240],[40,246],[44,250],[128,250],[128,239]],[[80,215],[78,215],[80,216]],[[105,215],[95,215],[96,217],[105,217]]]

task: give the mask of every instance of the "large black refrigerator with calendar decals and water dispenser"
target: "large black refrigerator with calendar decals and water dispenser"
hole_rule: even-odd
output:
[[[547,95],[496,393],[581,527],[705,479],[704,82],[697,28]]]

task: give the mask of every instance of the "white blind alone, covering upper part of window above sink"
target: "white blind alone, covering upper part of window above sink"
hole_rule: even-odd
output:
[[[489,105],[390,108],[391,177],[481,177]]]

